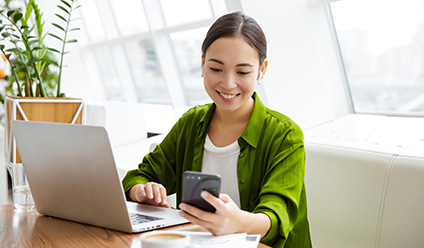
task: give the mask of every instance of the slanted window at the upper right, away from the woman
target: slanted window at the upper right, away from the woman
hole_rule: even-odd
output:
[[[330,7],[355,111],[424,114],[424,2],[337,1]]]

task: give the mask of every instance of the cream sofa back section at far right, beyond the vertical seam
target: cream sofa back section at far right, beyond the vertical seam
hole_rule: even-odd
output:
[[[396,156],[387,181],[378,246],[424,246],[424,158]]]

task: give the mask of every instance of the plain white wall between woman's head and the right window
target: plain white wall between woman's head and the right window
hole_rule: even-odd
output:
[[[241,0],[263,28],[268,106],[303,128],[352,112],[337,43],[324,4],[311,0]]]

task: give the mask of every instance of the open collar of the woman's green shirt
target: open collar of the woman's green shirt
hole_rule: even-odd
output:
[[[240,138],[246,141],[250,146],[256,148],[259,142],[259,138],[262,132],[262,127],[265,119],[266,107],[259,99],[257,93],[253,93],[252,98],[255,100],[255,106],[250,116],[249,122],[247,123],[246,129]],[[216,105],[215,103],[211,104],[211,107],[208,109],[205,115],[197,123],[198,129],[198,138],[206,137],[206,132],[209,129],[209,124],[211,122],[213,113],[215,112]]]

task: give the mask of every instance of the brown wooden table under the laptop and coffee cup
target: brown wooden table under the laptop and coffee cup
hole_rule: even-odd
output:
[[[203,231],[185,224],[162,230]],[[140,234],[80,224],[0,205],[0,247],[141,247]],[[258,247],[268,247],[259,244]]]

